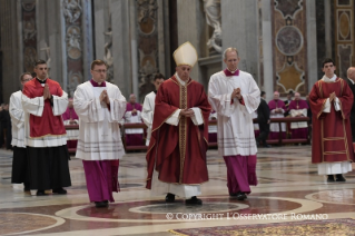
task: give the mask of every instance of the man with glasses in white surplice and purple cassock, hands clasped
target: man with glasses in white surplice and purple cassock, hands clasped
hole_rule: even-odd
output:
[[[119,121],[126,111],[126,98],[119,88],[105,81],[107,65],[91,63],[90,81],[78,86],[73,108],[79,116],[76,157],[82,159],[90,201],[107,207],[119,190],[118,166],[125,155]]]

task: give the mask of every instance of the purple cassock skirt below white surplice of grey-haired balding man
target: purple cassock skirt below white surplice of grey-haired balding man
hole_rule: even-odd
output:
[[[227,186],[229,194],[244,191],[250,194],[250,185],[257,185],[256,155],[224,156],[227,166]]]

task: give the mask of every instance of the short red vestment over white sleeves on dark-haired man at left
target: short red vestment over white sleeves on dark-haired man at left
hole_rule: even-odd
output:
[[[49,86],[51,95],[61,97],[62,90],[60,85],[51,79],[47,79],[46,83]],[[22,90],[22,94],[28,98],[43,97],[45,87],[37,79],[28,81]],[[41,117],[30,114],[30,137],[39,138],[48,135],[66,135],[65,125],[61,116],[55,116],[50,100],[46,99],[45,108]]]

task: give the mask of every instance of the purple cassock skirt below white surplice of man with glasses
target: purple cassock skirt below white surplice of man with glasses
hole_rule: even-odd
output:
[[[109,200],[119,191],[119,160],[82,160],[90,201]]]

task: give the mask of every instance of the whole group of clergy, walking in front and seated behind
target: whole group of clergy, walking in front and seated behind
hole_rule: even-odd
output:
[[[48,78],[46,61],[36,61],[36,77],[22,73],[22,89],[10,97],[12,183],[23,184],[24,191],[37,196],[67,194],[65,188],[71,186],[68,149],[75,148],[76,158],[82,160],[89,200],[108,207],[115,201],[112,193],[120,190],[118,170],[125,145],[146,145],[146,188],[151,196],[165,195],[168,204],[179,197],[186,205],[201,205],[197,196],[209,179],[208,142],[217,142],[227,167],[228,195],[244,200],[250,186],[257,185],[257,147],[269,147],[267,139],[307,139],[308,127],[313,127],[312,163],[317,164],[318,174],[326,175],[328,183],[345,181],[343,174],[352,171],[354,161],[355,68],[341,79],[334,61],[325,59],[324,77],[306,100],[289,92],[284,101],[275,91],[267,102],[253,76],[238,69],[236,48],[224,51],[226,68],[210,77],[207,94],[190,78],[198,59],[194,46],[186,42],[172,56],[175,75],[166,79],[157,73],[155,90],[142,106],[135,95],[127,101],[118,86],[106,81],[102,60],[92,61],[91,79],[77,87],[73,98]],[[312,121],[272,122],[280,117]],[[121,134],[125,124],[142,122],[147,129],[128,128]],[[79,129],[66,130],[66,126]]]

